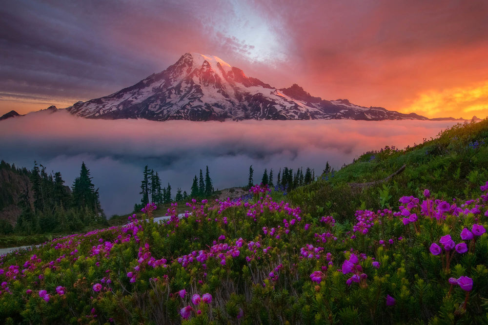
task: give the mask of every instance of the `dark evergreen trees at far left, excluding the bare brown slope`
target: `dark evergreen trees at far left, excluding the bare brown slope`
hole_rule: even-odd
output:
[[[15,169],[4,161],[0,169],[26,175],[30,186],[21,192],[21,212],[14,227],[4,222],[2,233],[23,234],[77,231],[89,225],[106,224],[100,205],[99,189],[95,189],[90,171],[81,164],[80,176],[71,187],[64,185],[61,172],[46,172],[45,166],[34,161],[34,168]]]

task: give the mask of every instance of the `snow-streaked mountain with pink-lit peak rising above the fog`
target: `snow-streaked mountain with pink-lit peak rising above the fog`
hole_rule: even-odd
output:
[[[294,84],[276,89],[219,57],[186,53],[163,72],[109,96],[67,108],[87,118],[207,121],[225,119],[427,119],[346,99],[327,101]]]

